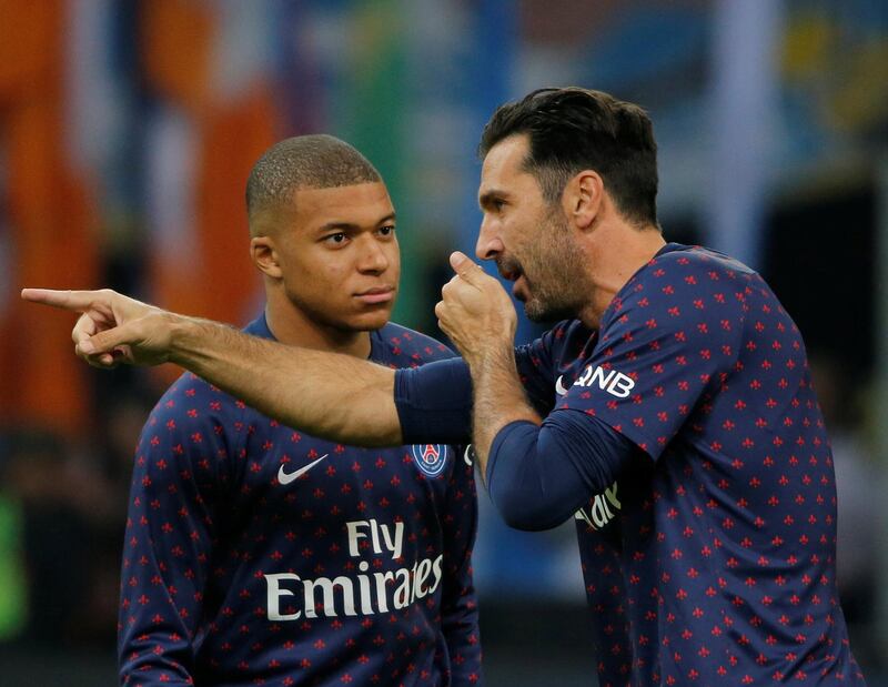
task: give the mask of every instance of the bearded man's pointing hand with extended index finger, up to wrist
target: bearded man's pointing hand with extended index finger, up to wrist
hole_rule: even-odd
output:
[[[120,363],[158,365],[170,356],[173,325],[181,315],[169,313],[110,289],[54,291],[23,289],[21,297],[81,313],[71,339],[74,353],[94,367]]]

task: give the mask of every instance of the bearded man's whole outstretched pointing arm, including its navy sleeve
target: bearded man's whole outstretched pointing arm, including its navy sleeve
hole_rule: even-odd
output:
[[[397,373],[349,355],[286,346],[186,317],[111,290],[26,289],[22,297],[81,313],[75,352],[97,367],[173,362],[307,434],[359,446],[463,443],[472,380],[461,358]],[[515,353],[531,402],[554,403],[552,334]]]

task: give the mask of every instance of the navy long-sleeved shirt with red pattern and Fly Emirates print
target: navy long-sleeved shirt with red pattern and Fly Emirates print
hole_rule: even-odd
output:
[[[246,331],[271,335],[264,317]],[[452,355],[395,324],[372,334],[371,360],[392,367]],[[430,475],[411,446],[317,440],[180,377],[137,448],[124,684],[482,684],[473,468],[460,447],[435,451]]]

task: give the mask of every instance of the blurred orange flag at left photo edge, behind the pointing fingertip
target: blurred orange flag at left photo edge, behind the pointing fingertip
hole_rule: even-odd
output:
[[[0,0],[0,138],[7,163],[3,225],[14,283],[95,285],[92,202],[67,156],[64,30],[60,0]],[[4,292],[0,307],[0,413],[11,424],[46,423],[69,434],[89,417],[72,322]]]

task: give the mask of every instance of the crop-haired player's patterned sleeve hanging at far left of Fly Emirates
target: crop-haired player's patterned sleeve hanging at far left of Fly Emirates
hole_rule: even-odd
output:
[[[121,566],[121,684],[193,685],[221,489],[230,483],[219,416],[233,400],[190,374],[161,398],[133,464]],[[220,410],[213,410],[213,406]],[[231,407],[231,412],[235,408]],[[230,413],[229,413],[230,414]]]

